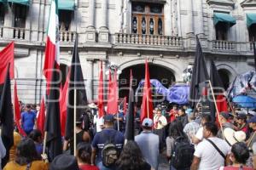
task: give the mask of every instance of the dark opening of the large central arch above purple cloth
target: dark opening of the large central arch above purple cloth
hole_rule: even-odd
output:
[[[150,79],[157,79],[166,88],[169,88],[176,81],[173,72],[164,66],[148,63],[148,69]],[[119,98],[129,96],[130,71],[133,75],[134,91],[137,89],[139,82],[145,77],[144,64],[132,65],[122,70],[119,75]]]

